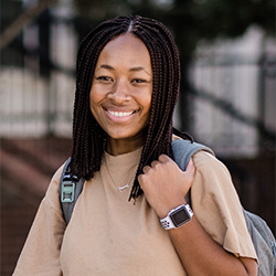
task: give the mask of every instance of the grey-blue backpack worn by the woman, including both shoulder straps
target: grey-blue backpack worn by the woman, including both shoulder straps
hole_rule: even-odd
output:
[[[214,152],[204,145],[182,139],[172,141],[172,150],[176,162],[183,171],[190,158],[197,151],[204,150],[214,155]],[[66,224],[70,222],[74,205],[83,190],[85,181],[83,178],[77,179],[71,176],[68,169],[70,161],[71,158],[65,162],[60,182],[60,201]],[[190,202],[190,194],[188,194],[187,201]],[[246,210],[243,211],[258,257],[258,276],[276,276],[276,242],[270,229],[258,215]]]

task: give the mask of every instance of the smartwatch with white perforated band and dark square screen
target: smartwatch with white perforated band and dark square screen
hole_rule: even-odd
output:
[[[164,230],[179,229],[191,221],[192,216],[192,209],[189,204],[185,204],[172,209],[164,219],[160,220],[160,222]]]

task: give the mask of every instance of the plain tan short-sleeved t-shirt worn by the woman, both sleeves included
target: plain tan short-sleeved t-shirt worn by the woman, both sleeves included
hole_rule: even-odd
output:
[[[116,190],[131,178],[140,152],[138,149],[117,157],[105,153],[100,171],[85,182],[67,227],[59,200],[60,168],[13,275],[187,275],[168,232],[146,198],[140,197],[134,204],[128,202],[130,189]],[[226,251],[257,258],[226,168],[206,152],[195,153],[193,161],[194,215]]]

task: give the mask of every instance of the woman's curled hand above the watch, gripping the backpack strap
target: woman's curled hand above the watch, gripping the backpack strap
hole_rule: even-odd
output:
[[[187,170],[182,171],[171,158],[161,155],[158,161],[152,161],[142,171],[138,181],[160,219],[170,210],[185,203],[184,197],[192,185],[195,171],[192,160],[189,161]]]

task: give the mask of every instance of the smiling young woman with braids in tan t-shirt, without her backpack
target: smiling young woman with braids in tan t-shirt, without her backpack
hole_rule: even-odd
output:
[[[185,172],[173,161],[179,86],[178,51],[160,22],[119,17],[84,39],[70,168],[86,182],[66,226],[57,170],[14,276],[257,275],[226,168],[203,151]],[[160,220],[174,209],[189,220],[168,230]]]

